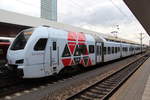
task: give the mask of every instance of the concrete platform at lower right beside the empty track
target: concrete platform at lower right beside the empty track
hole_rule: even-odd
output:
[[[150,58],[110,100],[150,100]]]

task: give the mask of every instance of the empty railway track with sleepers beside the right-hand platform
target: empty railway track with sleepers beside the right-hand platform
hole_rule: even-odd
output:
[[[150,57],[150,53],[70,96],[67,100],[107,100]]]

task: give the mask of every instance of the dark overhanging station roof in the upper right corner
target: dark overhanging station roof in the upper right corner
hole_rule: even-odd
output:
[[[150,35],[150,0],[124,0],[124,2]]]

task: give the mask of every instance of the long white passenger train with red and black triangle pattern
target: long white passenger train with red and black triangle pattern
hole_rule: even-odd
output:
[[[8,49],[7,60],[23,78],[40,78],[75,65],[88,67],[140,51],[138,44],[40,26],[17,35]]]

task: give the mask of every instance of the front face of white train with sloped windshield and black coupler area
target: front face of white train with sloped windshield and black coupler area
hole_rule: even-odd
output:
[[[8,48],[8,68],[20,77],[24,76],[25,47],[32,33],[33,29],[23,30],[16,36],[15,40]]]

